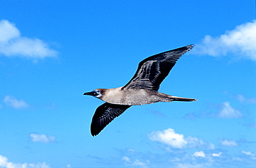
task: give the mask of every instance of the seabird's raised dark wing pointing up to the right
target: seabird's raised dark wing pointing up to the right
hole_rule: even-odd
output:
[[[160,84],[169,74],[176,61],[194,45],[187,45],[167,52],[162,52],[140,61],[138,69],[131,80],[122,87],[131,89],[159,90]]]

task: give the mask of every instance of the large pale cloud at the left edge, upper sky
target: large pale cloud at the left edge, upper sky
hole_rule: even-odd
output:
[[[21,36],[14,23],[0,21],[0,55],[25,56],[30,59],[44,59],[57,56],[57,51],[49,48],[48,43],[40,39]]]

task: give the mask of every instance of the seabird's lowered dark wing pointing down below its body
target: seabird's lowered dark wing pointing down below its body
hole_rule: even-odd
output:
[[[131,105],[114,105],[104,103],[100,105],[93,115],[91,121],[91,135],[98,135],[114,118],[120,116]]]

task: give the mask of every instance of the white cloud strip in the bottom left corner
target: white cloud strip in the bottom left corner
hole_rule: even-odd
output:
[[[46,162],[42,163],[15,163],[9,162],[8,158],[0,155],[0,167],[2,168],[50,168],[49,165],[46,165]]]

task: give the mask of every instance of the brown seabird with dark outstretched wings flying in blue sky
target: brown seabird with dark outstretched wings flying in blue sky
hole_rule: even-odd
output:
[[[91,135],[97,136],[104,127],[133,105],[147,105],[157,102],[196,101],[194,98],[170,96],[158,92],[165,77],[170,73],[176,61],[192,50],[194,45],[187,45],[160,54],[149,56],[140,61],[131,80],[123,87],[96,89],[84,95],[94,96],[104,101],[93,115]]]

